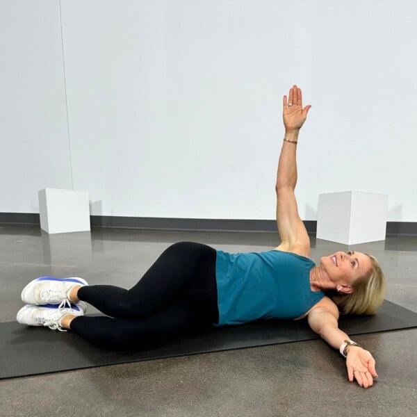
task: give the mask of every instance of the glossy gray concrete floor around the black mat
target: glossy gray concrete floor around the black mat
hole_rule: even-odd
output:
[[[0,321],[15,320],[31,279],[83,277],[129,288],[171,243],[229,252],[270,250],[277,234],[94,229],[48,235],[0,224]],[[311,258],[345,245],[311,238]],[[417,237],[355,245],[376,256],[386,299],[417,311]],[[89,307],[88,313],[97,313]],[[417,329],[355,336],[373,352],[370,389],[347,380],[323,341],[255,347],[0,381],[0,416],[417,416]]]

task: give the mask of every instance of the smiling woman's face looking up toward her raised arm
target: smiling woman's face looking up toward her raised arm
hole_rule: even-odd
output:
[[[355,279],[366,275],[372,268],[369,256],[354,250],[323,256],[320,263],[330,281],[345,285],[351,285]]]

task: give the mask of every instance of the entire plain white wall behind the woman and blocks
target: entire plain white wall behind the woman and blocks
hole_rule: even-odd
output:
[[[273,219],[296,82],[313,105],[301,217],[359,190],[415,222],[416,15],[411,0],[2,1],[0,211],[37,213],[54,187],[88,191],[93,215]]]

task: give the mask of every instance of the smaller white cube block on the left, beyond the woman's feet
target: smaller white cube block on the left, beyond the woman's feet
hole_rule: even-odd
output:
[[[49,234],[90,231],[88,193],[44,188],[38,196],[42,230]]]

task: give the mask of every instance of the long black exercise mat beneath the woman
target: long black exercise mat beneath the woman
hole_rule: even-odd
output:
[[[349,335],[386,332],[417,327],[417,313],[384,301],[375,316],[342,316],[339,324]],[[90,345],[72,332],[3,322],[0,323],[0,379],[316,338],[319,337],[311,331],[306,319],[265,320],[213,327],[202,334],[172,338],[149,350],[112,352]]]

